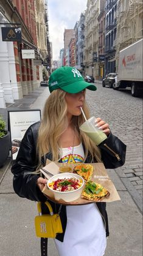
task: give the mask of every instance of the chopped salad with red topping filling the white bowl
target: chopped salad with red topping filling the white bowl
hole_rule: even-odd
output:
[[[68,192],[75,189],[78,189],[83,184],[82,179],[77,178],[64,178],[64,179],[57,179],[56,181],[52,181],[49,183],[49,187],[56,191],[61,192]]]

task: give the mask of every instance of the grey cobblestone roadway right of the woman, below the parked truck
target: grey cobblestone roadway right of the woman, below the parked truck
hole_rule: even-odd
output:
[[[129,89],[114,91],[96,85],[97,93],[87,91],[88,105],[92,115],[108,122],[113,134],[127,145],[125,165],[116,173],[137,200],[142,195],[142,98],[132,97]]]

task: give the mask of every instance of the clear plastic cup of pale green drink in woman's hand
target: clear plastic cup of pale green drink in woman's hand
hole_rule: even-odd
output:
[[[80,130],[85,132],[85,134],[98,146],[106,140],[107,137],[106,134],[96,126],[95,120],[95,116],[92,116],[87,121],[83,122],[82,126],[80,126]]]

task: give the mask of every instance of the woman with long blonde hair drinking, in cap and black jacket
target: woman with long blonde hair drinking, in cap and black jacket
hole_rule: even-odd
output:
[[[59,162],[103,162],[105,168],[117,168],[125,162],[126,146],[111,134],[105,121],[97,118],[96,125],[105,132],[106,148],[98,147],[80,131],[80,125],[89,118],[85,102],[86,88],[96,91],[96,86],[86,83],[77,69],[61,67],[49,78],[51,95],[46,101],[41,124],[29,127],[12,167],[13,187],[20,197],[46,201],[41,192],[47,180],[35,170],[46,164],[46,159]],[[110,150],[111,149],[111,150]],[[114,154],[116,152],[116,154]],[[58,213],[60,205],[51,201]],[[43,204],[43,213],[47,209]],[[106,248],[108,219],[106,204],[62,206],[60,212],[63,233],[57,234],[55,244],[60,256],[102,256]]]

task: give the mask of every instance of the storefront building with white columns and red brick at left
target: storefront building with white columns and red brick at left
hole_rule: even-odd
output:
[[[41,55],[22,18],[8,1],[0,6],[0,23],[0,108],[5,108],[6,103],[22,99],[40,86],[42,66],[33,65],[33,59]],[[23,58],[23,49],[33,49],[34,58]]]

